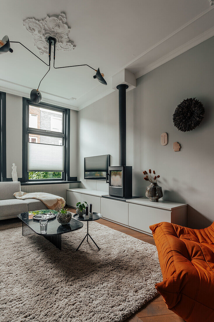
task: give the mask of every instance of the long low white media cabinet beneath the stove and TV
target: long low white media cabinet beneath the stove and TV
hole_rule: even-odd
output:
[[[103,219],[152,235],[149,226],[160,222],[187,225],[187,204],[171,201],[151,202],[147,198],[118,201],[102,197],[106,191],[84,188],[67,189],[67,205],[76,208],[76,203],[93,204],[93,211]]]

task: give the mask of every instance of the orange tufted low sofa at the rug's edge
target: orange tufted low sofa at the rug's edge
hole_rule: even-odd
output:
[[[214,223],[205,229],[158,223],[150,229],[163,275],[155,287],[167,307],[187,322],[214,322]]]

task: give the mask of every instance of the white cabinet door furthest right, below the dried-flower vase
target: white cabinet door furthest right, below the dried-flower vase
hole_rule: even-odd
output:
[[[171,211],[138,204],[129,204],[129,226],[152,233],[150,225],[155,223],[171,223]]]

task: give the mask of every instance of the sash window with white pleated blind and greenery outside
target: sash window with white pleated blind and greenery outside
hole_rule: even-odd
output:
[[[66,180],[67,110],[27,103],[27,181]]]

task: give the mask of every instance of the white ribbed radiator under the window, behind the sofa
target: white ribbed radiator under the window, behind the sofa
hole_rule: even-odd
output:
[[[48,194],[55,194],[63,197],[66,201],[67,189],[69,189],[69,183],[65,184],[52,184],[52,185],[22,185],[21,190],[23,192],[47,192]]]

